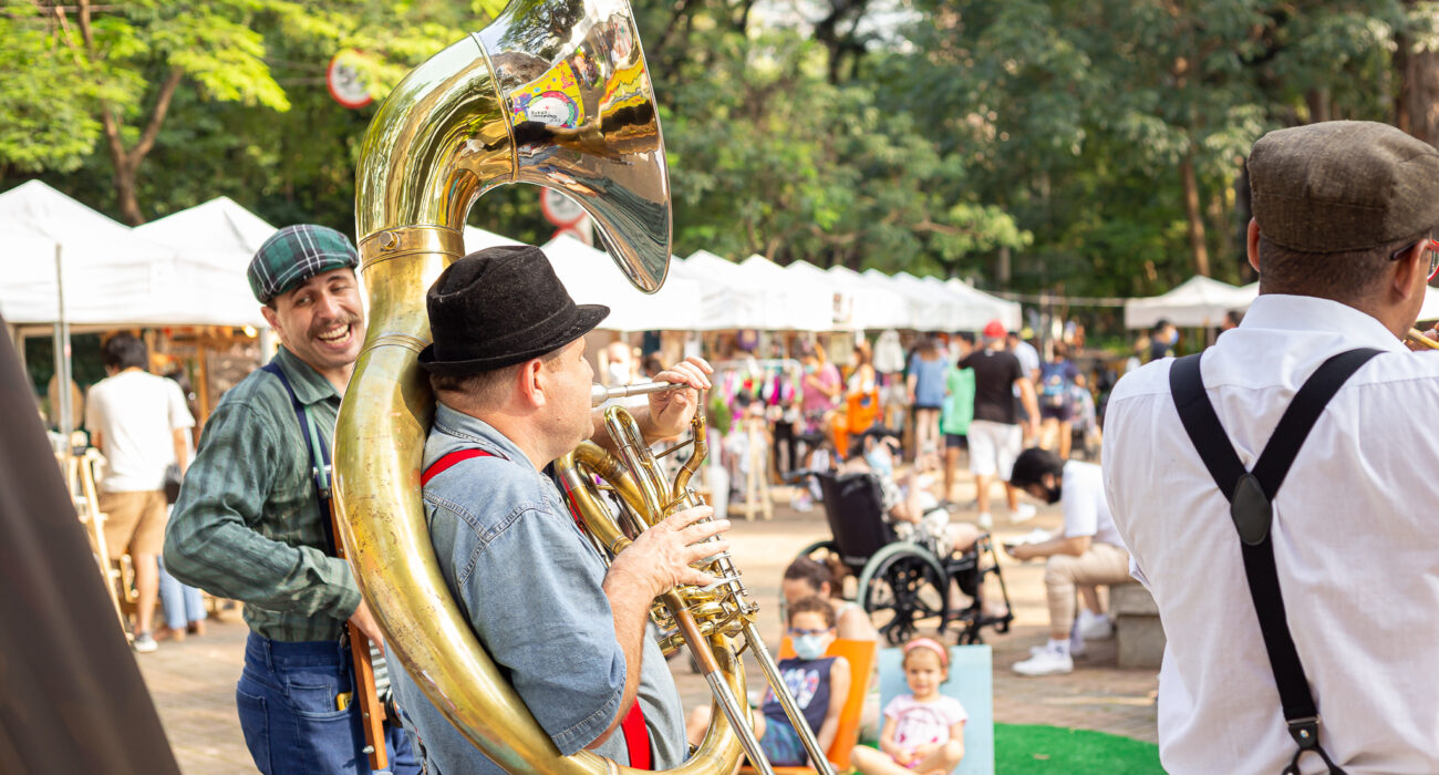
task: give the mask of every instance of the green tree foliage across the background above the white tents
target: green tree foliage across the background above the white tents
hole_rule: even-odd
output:
[[[12,3],[0,184],[39,174],[130,220],[227,194],[275,223],[353,230],[357,144],[376,108],[337,105],[325,63],[361,52],[378,99],[499,6],[134,0],[95,6],[82,24],[75,6]],[[1439,138],[1429,1],[635,0],[635,12],[682,255],[1082,295],[1161,292],[1196,271],[1238,282],[1243,158],[1261,134],[1364,118]],[[527,241],[551,230],[522,186],[486,196],[472,222]]]

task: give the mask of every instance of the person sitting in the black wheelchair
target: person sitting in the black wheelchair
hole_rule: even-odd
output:
[[[899,540],[925,545],[937,556],[961,555],[974,547],[977,527],[950,521],[950,513],[931,491],[934,475],[911,470],[902,481],[895,478],[894,461],[899,458],[899,439],[885,428],[869,429],[858,449],[839,467],[839,474],[871,474],[879,484],[884,519]]]

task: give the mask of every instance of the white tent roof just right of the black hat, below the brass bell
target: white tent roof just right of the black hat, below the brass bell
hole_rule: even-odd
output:
[[[694,330],[699,328],[699,287],[688,279],[671,277],[653,294],[630,285],[610,255],[567,235],[544,245],[564,288],[576,304],[604,304],[609,317],[600,328],[614,331]]]

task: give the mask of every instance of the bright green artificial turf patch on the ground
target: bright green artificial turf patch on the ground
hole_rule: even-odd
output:
[[[1164,769],[1154,743],[1061,726],[994,725],[994,772],[1147,775]]]

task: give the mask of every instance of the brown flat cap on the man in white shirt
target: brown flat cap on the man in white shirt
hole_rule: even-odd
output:
[[[1265,239],[1307,254],[1361,251],[1439,226],[1439,151],[1387,124],[1272,131],[1249,154]]]

